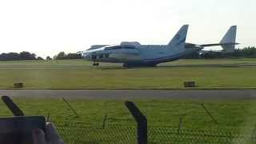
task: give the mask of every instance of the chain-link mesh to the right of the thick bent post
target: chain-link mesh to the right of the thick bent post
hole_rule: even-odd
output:
[[[149,143],[256,143],[256,134],[239,130],[179,130],[153,126],[149,128]]]

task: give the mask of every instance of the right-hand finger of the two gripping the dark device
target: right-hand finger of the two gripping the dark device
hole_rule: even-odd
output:
[[[58,142],[60,140],[58,132],[54,125],[50,122],[46,123],[46,141],[48,142]]]

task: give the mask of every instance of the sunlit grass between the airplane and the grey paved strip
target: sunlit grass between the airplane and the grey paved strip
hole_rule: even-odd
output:
[[[256,59],[180,60],[136,69],[90,64],[83,60],[0,62],[0,89],[12,89],[14,82],[23,82],[25,89],[182,89],[185,81],[195,81],[198,89],[256,88],[256,66],[236,66],[256,64]]]

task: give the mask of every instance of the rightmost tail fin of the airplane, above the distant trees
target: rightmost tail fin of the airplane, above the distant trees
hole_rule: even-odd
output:
[[[222,41],[220,42],[223,50],[225,52],[234,52],[234,46],[237,44],[235,42],[237,35],[237,26],[231,26],[230,30],[226,32]]]

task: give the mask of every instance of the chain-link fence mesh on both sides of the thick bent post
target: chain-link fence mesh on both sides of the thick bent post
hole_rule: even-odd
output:
[[[137,143],[136,126],[54,122],[68,144]],[[149,126],[148,143],[256,143],[256,134],[238,130],[179,130],[174,127]]]

